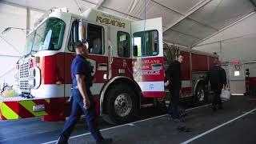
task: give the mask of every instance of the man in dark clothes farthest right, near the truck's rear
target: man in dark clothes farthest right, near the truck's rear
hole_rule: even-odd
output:
[[[226,89],[226,71],[220,66],[218,58],[214,59],[214,67],[208,71],[206,84],[210,81],[210,88],[214,91],[213,110],[222,109],[220,94],[222,89]]]

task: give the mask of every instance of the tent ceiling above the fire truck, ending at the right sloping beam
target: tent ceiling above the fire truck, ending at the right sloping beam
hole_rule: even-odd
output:
[[[67,6],[80,14],[99,6],[110,14],[134,20],[144,19],[144,0],[6,0],[40,10]],[[146,18],[162,17],[164,39],[183,46],[194,46],[223,27],[255,10],[256,0],[146,0]],[[102,2],[102,3],[101,3]],[[78,6],[81,10],[78,9]]]

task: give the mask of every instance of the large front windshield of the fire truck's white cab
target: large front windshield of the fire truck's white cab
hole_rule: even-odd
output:
[[[59,18],[48,18],[34,32],[26,38],[25,54],[32,54],[41,50],[59,50],[65,22]]]

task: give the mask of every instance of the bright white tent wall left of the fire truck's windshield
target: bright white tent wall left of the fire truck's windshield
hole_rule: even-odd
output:
[[[29,13],[27,11],[29,10]],[[32,29],[34,22],[41,17],[42,11],[18,6],[8,2],[0,2],[0,88],[5,81],[14,86],[16,62],[23,55],[26,43],[26,30],[12,29],[1,34],[6,27]],[[29,18],[29,19],[27,19]],[[29,23],[28,23],[29,22]]]

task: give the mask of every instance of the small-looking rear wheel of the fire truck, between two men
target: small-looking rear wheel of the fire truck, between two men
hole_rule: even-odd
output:
[[[203,84],[199,84],[194,94],[194,102],[193,102],[194,106],[200,106],[202,104],[205,104],[206,101],[207,101],[207,98],[206,98],[205,87]]]

